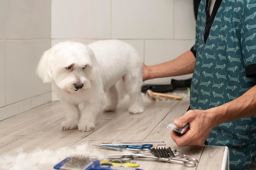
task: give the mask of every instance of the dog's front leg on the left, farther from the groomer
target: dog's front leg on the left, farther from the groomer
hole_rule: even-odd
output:
[[[62,106],[66,113],[66,120],[61,122],[62,129],[70,130],[77,128],[77,124],[80,119],[80,110],[78,105],[62,102]]]

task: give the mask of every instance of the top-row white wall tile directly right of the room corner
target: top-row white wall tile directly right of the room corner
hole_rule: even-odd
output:
[[[110,0],[52,0],[53,39],[109,39]]]

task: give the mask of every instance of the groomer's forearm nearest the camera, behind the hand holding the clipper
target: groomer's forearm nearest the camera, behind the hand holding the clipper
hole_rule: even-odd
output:
[[[256,85],[245,94],[224,105],[209,110],[214,116],[215,126],[218,124],[256,115]]]

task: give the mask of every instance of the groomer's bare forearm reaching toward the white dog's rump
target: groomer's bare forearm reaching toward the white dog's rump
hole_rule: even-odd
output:
[[[149,75],[147,79],[190,74],[193,73],[194,67],[195,57],[189,50],[171,61],[148,66]]]

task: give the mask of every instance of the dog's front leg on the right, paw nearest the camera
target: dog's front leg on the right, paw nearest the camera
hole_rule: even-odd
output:
[[[81,111],[81,118],[78,124],[78,130],[83,132],[92,131],[95,128],[96,116],[101,111],[99,102],[86,102]]]

